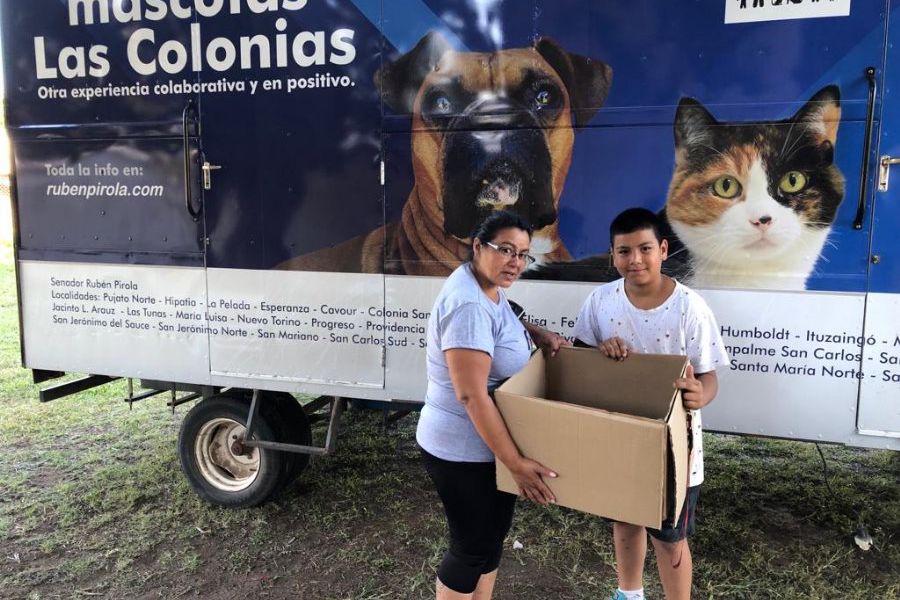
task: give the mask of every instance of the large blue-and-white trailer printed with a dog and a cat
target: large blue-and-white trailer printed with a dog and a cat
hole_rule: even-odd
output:
[[[611,218],[660,212],[731,356],[707,429],[900,449],[900,0],[31,0],[0,35],[22,364],[199,400],[211,502],[332,452],[348,398],[422,402],[499,209],[568,336]]]

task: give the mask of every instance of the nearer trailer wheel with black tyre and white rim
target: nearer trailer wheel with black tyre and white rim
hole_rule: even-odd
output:
[[[276,439],[268,411],[259,411],[254,438]],[[227,507],[265,502],[285,478],[283,453],[240,444],[247,403],[220,395],[203,400],[185,416],[178,435],[181,469],[197,494]]]

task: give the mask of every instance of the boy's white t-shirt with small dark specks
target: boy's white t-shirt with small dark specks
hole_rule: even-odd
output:
[[[635,352],[681,354],[688,357],[696,375],[728,364],[719,326],[706,301],[677,281],[672,295],[650,310],[631,303],[624,279],[601,285],[581,306],[575,337],[591,346],[620,337]],[[700,411],[691,414],[694,448],[689,485],[693,487],[703,483],[703,429]]]

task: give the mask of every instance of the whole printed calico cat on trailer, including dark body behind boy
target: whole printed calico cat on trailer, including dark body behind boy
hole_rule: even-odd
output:
[[[834,164],[840,90],[829,85],[783,120],[719,121],[684,97],[675,111],[674,170],[659,210],[663,271],[696,288],[803,290],[844,198]],[[612,281],[602,254],[538,265],[525,279]]]

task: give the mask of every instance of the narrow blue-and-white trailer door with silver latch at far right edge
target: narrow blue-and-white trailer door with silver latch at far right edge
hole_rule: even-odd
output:
[[[857,428],[863,435],[900,438],[900,1],[889,8]]]

